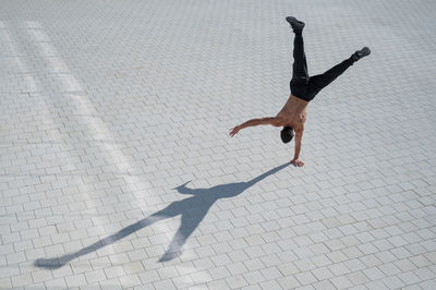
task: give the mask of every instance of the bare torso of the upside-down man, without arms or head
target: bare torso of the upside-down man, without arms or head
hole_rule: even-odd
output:
[[[306,121],[307,104],[308,101],[300,99],[291,94],[276,118],[284,120],[284,125],[292,126],[294,131],[299,131],[303,129],[304,122]]]

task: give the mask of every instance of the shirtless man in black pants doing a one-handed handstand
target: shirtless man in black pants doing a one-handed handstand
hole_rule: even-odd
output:
[[[304,122],[307,116],[307,104],[319,93],[324,87],[330,84],[336,77],[342,74],[348,68],[363,57],[371,53],[370,48],[364,47],[355,51],[349,59],[335,65],[323,74],[308,76],[306,57],[303,45],[303,28],[304,22],[298,21],[295,17],[288,16],[286,20],[291,25],[295,38],[293,41],[293,65],[292,80],[290,82],[291,95],[284,107],[276,117],[267,117],[253,119],[243,124],[237,125],[230,132],[230,136],[234,136],[241,129],[254,125],[270,124],[274,126],[283,126],[280,133],[283,143],[290,142],[295,132],[295,152],[291,164],[302,167],[304,164],[300,158],[301,140],[303,137]]]

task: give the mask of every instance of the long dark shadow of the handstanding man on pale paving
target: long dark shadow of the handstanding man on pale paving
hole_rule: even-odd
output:
[[[215,204],[216,201],[220,198],[234,197],[244,192],[250,186],[265,179],[266,177],[283,169],[288,165],[289,164],[287,162],[284,165],[272,168],[269,171],[247,182],[220,184],[210,189],[196,189],[196,190],[189,189],[186,188],[186,184],[189,182],[186,182],[175,188],[175,190],[178,190],[178,192],[181,194],[193,195],[192,197],[173,202],[166,208],[146,218],[143,218],[140,221],[121,229],[117,233],[106,237],[97,241],[96,243],[88,245],[75,253],[65,254],[63,256],[55,258],[38,258],[34,264],[35,266],[41,268],[48,268],[48,269],[60,268],[74,258],[95,252],[108,244],[112,244],[134,233],[135,231],[138,231],[159,220],[182,215],[182,223],[179,230],[177,231],[174,238],[170,242],[168,250],[166,251],[164,256],[159,259],[159,262],[171,261],[175,258],[178,255],[181,255],[183,253],[183,244],[185,243],[187,238],[192,234],[192,232],[198,227],[199,222],[204,219],[207,212],[210,209],[210,207]]]

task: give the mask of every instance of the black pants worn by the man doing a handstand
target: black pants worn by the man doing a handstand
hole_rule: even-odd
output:
[[[307,101],[311,101],[316,94],[354,63],[354,60],[350,57],[323,74],[308,76],[303,36],[301,33],[295,34],[293,41],[293,60],[292,80],[290,83],[291,93],[295,97]]]

